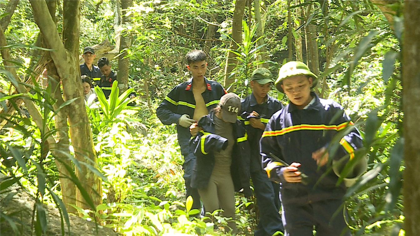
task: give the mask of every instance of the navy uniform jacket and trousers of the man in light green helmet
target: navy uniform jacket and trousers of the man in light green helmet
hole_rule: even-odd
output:
[[[312,152],[327,147],[334,160],[353,158],[354,150],[362,147],[362,138],[341,105],[311,95],[314,99],[306,109],[289,103],[270,118],[260,140],[262,165],[271,180],[281,183],[286,236],[312,236],[313,226],[319,236],[349,236],[342,213],[346,187],[343,182],[336,186],[339,177],[328,164],[318,167]],[[334,145],[328,145],[344,129],[351,130],[333,150]],[[286,182],[282,175],[285,167],[270,152],[286,163],[301,163],[299,171],[309,177],[308,184]]]

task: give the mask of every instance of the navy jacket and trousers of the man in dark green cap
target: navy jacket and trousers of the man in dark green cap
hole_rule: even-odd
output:
[[[254,94],[250,94],[241,100],[241,111],[239,114],[256,111],[260,115],[260,121],[267,125],[271,115],[281,108],[283,108],[283,105],[273,97],[267,96],[267,99],[262,104],[258,104]],[[254,236],[271,236],[277,231],[283,232],[284,228],[279,214],[279,184],[270,181],[267,173],[265,173],[261,166],[260,138],[263,130],[252,127],[247,118],[238,116],[238,119],[242,121],[242,125],[248,133],[251,153],[251,179],[260,212],[258,229],[254,231]]]

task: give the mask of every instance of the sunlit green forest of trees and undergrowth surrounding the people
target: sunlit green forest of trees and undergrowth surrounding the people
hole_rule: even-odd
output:
[[[199,49],[207,78],[241,98],[256,68],[276,77],[307,63],[315,92],[363,136],[367,172],[345,199],[352,235],[417,235],[419,12],[417,0],[0,1],[2,233],[52,235],[54,208],[63,235],[77,228],[70,213],[128,236],[230,235],[194,217],[176,127],[155,112],[190,79],[185,55]],[[108,100],[98,87],[98,102],[82,97],[88,46],[95,65],[106,57],[118,71]],[[11,208],[22,192],[26,220]],[[253,235],[255,197],[237,194],[236,215],[239,234]]]

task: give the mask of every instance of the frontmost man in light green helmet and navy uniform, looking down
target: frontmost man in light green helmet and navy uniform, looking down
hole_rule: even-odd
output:
[[[350,236],[343,217],[346,186],[338,184],[331,163],[354,158],[362,137],[341,105],[311,92],[317,80],[302,62],[280,68],[274,85],[290,102],[265,127],[262,166],[268,178],[281,184],[284,235],[312,236],[315,226],[318,236]],[[343,129],[349,131],[339,133]],[[332,143],[338,133],[339,144]]]

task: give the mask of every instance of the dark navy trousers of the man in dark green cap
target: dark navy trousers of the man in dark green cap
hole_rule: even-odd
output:
[[[255,236],[271,236],[277,231],[283,232],[283,224],[280,214],[280,199],[278,197],[278,184],[270,181],[267,174],[261,171],[251,172],[252,183],[254,184],[255,197],[260,212],[258,229],[254,231]],[[276,190],[275,190],[276,188]],[[277,191],[277,194],[275,192]]]

